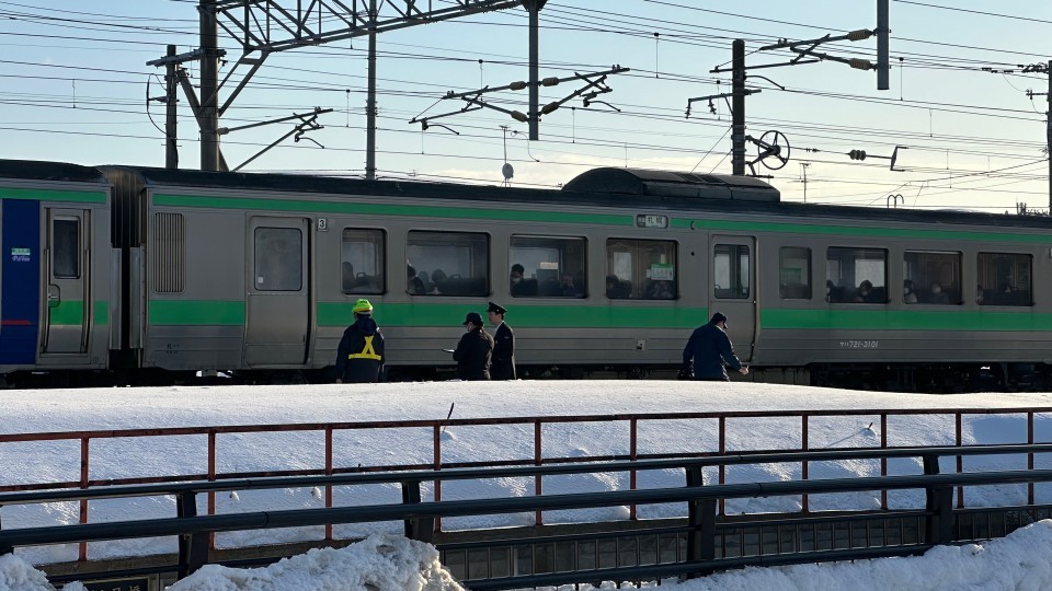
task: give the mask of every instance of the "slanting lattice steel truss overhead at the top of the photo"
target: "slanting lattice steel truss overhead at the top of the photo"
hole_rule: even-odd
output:
[[[368,0],[219,0],[214,10],[219,26],[241,44],[245,53],[284,51],[431,24],[460,16],[523,5],[523,0],[456,0],[447,8],[421,10],[419,0],[385,0],[393,14],[370,13]],[[427,3],[431,7],[431,2]]]

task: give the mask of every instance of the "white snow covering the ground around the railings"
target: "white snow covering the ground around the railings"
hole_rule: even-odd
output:
[[[499,387],[500,409],[494,410]],[[146,401],[146,404],[144,404]],[[290,405],[289,401],[296,401]],[[812,449],[878,445],[879,418],[856,414],[860,408],[1052,408],[1052,393],[924,395],[887,394],[782,386],[752,383],[705,383],[661,381],[517,381],[436,382],[397,384],[330,384],[300,386],[172,386],[151,389],[85,389],[5,391],[0,406],[0,432],[50,432],[87,429],[141,427],[202,427],[218,425],[279,425],[350,420],[442,419],[451,408],[454,418],[498,416],[564,416],[603,413],[675,413],[716,410],[846,409],[846,415],[813,418]],[[855,409],[855,413],[851,412]],[[1026,440],[1025,414],[965,416],[965,443],[1019,443]],[[877,419],[877,420],[874,420]],[[888,425],[891,445],[950,444],[952,415],[913,415],[892,418]],[[791,449],[800,445],[798,419],[729,419],[729,450]],[[714,421],[641,420],[639,450],[659,451],[712,449]],[[494,427],[450,426],[442,436],[443,457],[448,461],[531,457],[530,426],[505,426],[499,436]],[[320,467],[323,444],[317,433],[230,433],[218,436],[220,471],[264,471]],[[431,456],[430,429],[393,432],[390,429],[336,433],[335,465],[380,465],[426,462]],[[1052,414],[1037,415],[1034,439],[1052,441]],[[602,421],[546,427],[546,456],[581,456],[627,452],[627,425]],[[203,472],[205,441],[199,436],[116,439],[91,443],[91,477],[114,478]],[[1038,455],[1037,467],[1050,459]],[[1024,456],[981,456],[965,462],[965,470],[1018,470]],[[32,466],[32,468],[26,468]],[[41,483],[76,479],[80,466],[79,441],[0,444],[0,482]],[[952,459],[944,471],[952,470]],[[873,475],[879,463],[868,461],[812,463],[812,478]],[[892,474],[921,472],[916,461],[889,463]],[[786,480],[797,477],[799,467],[784,464],[741,466],[728,470],[728,482]],[[714,475],[707,473],[706,478]],[[550,477],[545,491],[551,494],[586,490],[616,490],[627,487],[627,475],[598,474]],[[678,471],[640,473],[641,487],[681,486]],[[499,482],[457,482],[443,487],[443,499],[513,497],[529,494],[528,483],[515,478]],[[432,490],[423,490],[424,500]],[[374,485],[356,489],[353,497],[343,488],[334,490],[335,505],[399,502],[397,486]],[[1038,502],[1050,502],[1052,488],[1036,487]],[[969,487],[969,507],[1024,503],[1026,488]],[[199,510],[205,497],[199,499]],[[895,508],[924,503],[923,491],[892,491]],[[812,496],[814,510],[876,507],[873,494]],[[312,489],[241,491],[217,496],[217,511],[322,507],[322,496]],[[76,523],[77,503],[46,507],[0,508],[4,528]],[[729,500],[729,513],[792,511],[800,509],[797,497]],[[641,506],[642,519],[684,515],[682,503]],[[147,519],[175,514],[170,498],[104,500],[91,503],[91,522],[115,519]],[[609,521],[626,519],[626,508],[597,508],[546,513],[546,522]],[[445,529],[521,525],[530,515],[484,515],[443,520]],[[294,557],[266,569],[250,571],[208,567],[173,588],[176,591],[278,589],[365,589],[347,581],[369,581],[381,590],[458,589],[437,564],[434,547],[398,537],[398,523],[345,524],[334,528],[336,537],[367,536],[342,551],[322,549]],[[319,540],[318,528],[283,529],[218,534],[217,545],[231,547],[275,542]],[[174,552],[174,538],[107,542],[89,545],[89,558],[148,555]],[[1044,589],[1052,586],[1052,522],[1040,522],[1006,540],[935,548],[923,558],[855,561],[845,565],[751,568],[685,583],[684,591],[700,589]],[[13,557],[0,557],[0,591],[48,589],[33,565],[76,558],[76,545],[18,548]],[[333,573],[339,573],[334,577]],[[341,582],[334,583],[336,578]],[[36,580],[36,583],[32,581]],[[415,581],[415,582],[414,582]],[[664,584],[662,586],[665,587]],[[675,586],[672,586],[675,587]],[[678,589],[677,588],[677,589]],[[68,590],[78,589],[68,586]]]

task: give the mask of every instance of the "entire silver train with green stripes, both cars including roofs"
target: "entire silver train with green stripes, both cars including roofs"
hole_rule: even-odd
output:
[[[1050,385],[1048,218],[632,169],[545,190],[0,161],[0,222],[14,384],[325,381],[368,298],[390,380],[449,375],[492,300],[525,378],[672,378],[719,311],[757,381]]]

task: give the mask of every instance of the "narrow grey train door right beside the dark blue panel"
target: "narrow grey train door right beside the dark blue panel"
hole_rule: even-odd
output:
[[[87,354],[90,326],[89,216],[80,209],[45,207],[43,354]]]

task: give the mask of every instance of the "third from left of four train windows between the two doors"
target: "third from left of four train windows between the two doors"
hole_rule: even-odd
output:
[[[512,236],[508,288],[513,298],[584,298],[588,276],[583,237]]]

